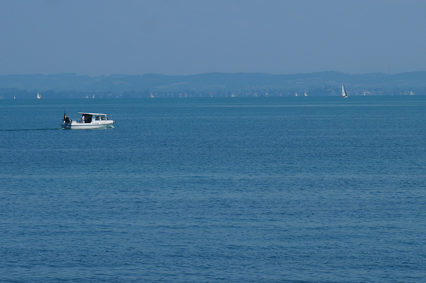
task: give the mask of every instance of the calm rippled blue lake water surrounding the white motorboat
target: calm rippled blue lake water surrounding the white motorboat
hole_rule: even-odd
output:
[[[426,96],[0,100],[0,282],[423,282],[425,125]]]

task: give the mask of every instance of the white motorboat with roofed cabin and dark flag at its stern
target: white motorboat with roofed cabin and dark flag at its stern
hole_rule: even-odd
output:
[[[80,121],[73,121],[67,114],[64,113],[64,119],[62,119],[62,128],[65,129],[100,129],[100,128],[114,128],[112,124],[115,123],[113,120],[109,120],[106,114],[99,113],[85,113],[82,114]]]

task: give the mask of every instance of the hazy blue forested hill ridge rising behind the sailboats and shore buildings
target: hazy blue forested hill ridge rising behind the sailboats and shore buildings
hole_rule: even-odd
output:
[[[362,89],[426,93],[426,71],[388,75],[386,73],[345,74],[324,71],[297,74],[202,73],[194,75],[112,74],[89,77],[76,73],[12,74],[0,76],[0,89],[15,92],[215,92],[218,91],[310,91],[316,95],[333,95],[341,82],[350,92]],[[330,91],[333,90],[330,94]],[[424,91],[425,90],[425,91]],[[64,94],[65,95],[65,94]]]

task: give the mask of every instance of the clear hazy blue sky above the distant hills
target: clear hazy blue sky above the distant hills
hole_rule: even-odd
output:
[[[0,75],[426,71],[424,0],[1,0]]]

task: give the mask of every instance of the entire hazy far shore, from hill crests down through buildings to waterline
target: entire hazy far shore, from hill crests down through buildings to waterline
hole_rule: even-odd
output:
[[[0,76],[3,99],[110,97],[232,97],[340,95],[344,82],[349,95],[426,94],[426,71],[399,74],[345,74],[336,71],[298,74],[204,73],[89,77],[75,73],[13,74]]]

